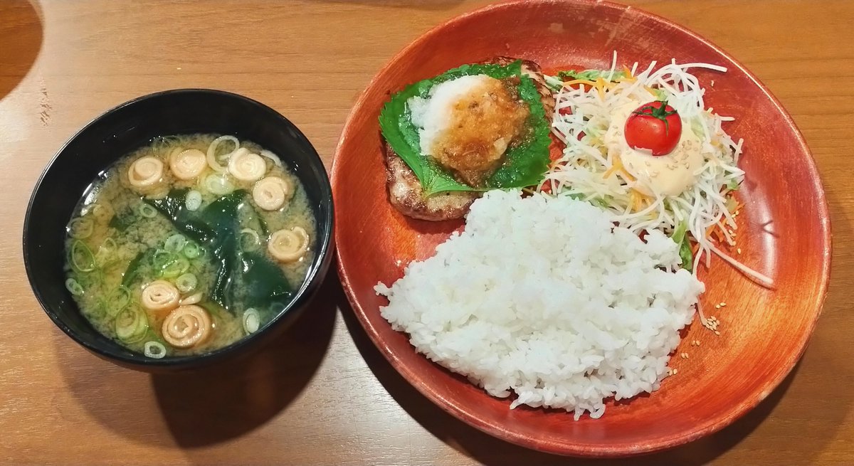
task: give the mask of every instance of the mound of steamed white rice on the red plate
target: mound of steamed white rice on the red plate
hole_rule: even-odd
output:
[[[438,364],[518,405],[605,412],[658,389],[703,283],[658,231],[645,241],[569,197],[494,190],[465,231],[412,262],[380,312]]]

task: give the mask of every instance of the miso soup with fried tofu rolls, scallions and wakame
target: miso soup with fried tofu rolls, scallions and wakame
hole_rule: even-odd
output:
[[[79,201],[66,286],[95,329],[132,351],[210,352],[290,302],[315,242],[305,189],[275,154],[231,136],[158,137]]]

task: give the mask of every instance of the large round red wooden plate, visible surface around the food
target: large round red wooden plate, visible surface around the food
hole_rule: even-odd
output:
[[[610,402],[598,420],[564,411],[517,408],[415,352],[407,335],[379,314],[373,287],[392,283],[412,260],[426,259],[462,222],[406,218],[389,205],[377,115],[389,93],[464,63],[495,55],[545,68],[704,61],[728,73],[694,70],[706,103],[736,121],[746,182],[737,256],[774,277],[760,288],[713,259],[702,272],[707,314],[720,336],[695,320],[660,390]],[[711,80],[715,81],[714,87]],[[529,448],[573,456],[621,457],[677,446],[711,434],[756,406],[792,370],[822,311],[830,266],[828,207],[803,138],[774,96],[732,57],[693,32],[643,11],[592,1],[500,3],[450,20],[395,56],[371,81],[344,127],[332,167],[339,273],[367,334],[428,399],[472,426]],[[715,309],[725,302],[726,306]],[[691,342],[699,340],[699,347]]]

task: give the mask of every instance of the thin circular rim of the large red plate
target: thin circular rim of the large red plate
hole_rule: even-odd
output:
[[[452,26],[454,24],[465,23],[469,20],[476,20],[477,17],[488,17],[488,15],[494,14],[496,11],[500,11],[502,9],[512,10],[518,8],[537,8],[543,5],[557,5],[557,4],[565,4],[565,3],[576,3],[582,6],[594,7],[594,8],[606,8],[606,9],[617,9],[622,11],[623,13],[632,10],[635,15],[640,15],[641,18],[646,20],[656,21],[658,23],[663,23],[664,25],[671,26],[676,31],[686,34],[693,40],[698,41],[701,44],[709,47],[715,53],[719,54],[723,59],[729,61],[733,67],[738,68],[741,73],[744,73],[747,79],[749,79],[753,84],[757,86],[757,89],[760,90],[766,98],[768,98],[769,102],[773,104],[773,106],[777,109],[777,111],[781,114],[783,119],[787,122],[787,125],[793,130],[793,135],[798,143],[798,148],[800,151],[807,155],[804,158],[804,171],[808,173],[808,177],[810,178],[811,184],[815,192],[820,195],[816,199],[816,208],[818,211],[819,219],[821,220],[819,223],[819,232],[822,239],[822,270],[821,277],[817,284],[818,293],[816,294],[816,300],[810,303],[811,308],[816,309],[815,316],[812,318],[809,328],[802,335],[800,335],[800,341],[798,341],[798,351],[793,352],[787,360],[780,364],[775,370],[775,373],[772,374],[769,378],[767,378],[762,384],[761,388],[758,389],[755,393],[752,393],[752,397],[750,399],[743,400],[742,402],[733,406],[733,408],[729,411],[722,411],[717,416],[713,416],[711,422],[705,421],[703,422],[699,428],[694,429],[690,432],[685,432],[681,435],[671,435],[666,438],[652,439],[647,440],[643,444],[625,444],[619,446],[613,446],[611,444],[577,444],[572,442],[571,440],[558,443],[554,441],[545,441],[545,440],[530,440],[524,435],[517,434],[512,430],[508,430],[507,428],[500,425],[497,422],[488,422],[483,420],[483,418],[473,414],[472,410],[467,408],[466,406],[455,404],[452,400],[445,398],[442,393],[439,393],[435,387],[431,387],[429,385],[424,384],[416,384],[412,383],[413,380],[416,380],[418,377],[414,374],[414,372],[410,369],[407,364],[403,364],[399,358],[396,357],[395,352],[389,349],[389,346],[380,338],[377,329],[371,324],[370,320],[366,317],[366,310],[362,308],[360,303],[355,299],[354,289],[352,288],[352,284],[350,282],[350,277],[348,275],[348,271],[343,264],[342,261],[342,248],[340,245],[345,244],[343,242],[343,238],[339,237],[338,230],[336,230],[336,244],[339,245],[339,248],[336,248],[336,259],[337,259],[337,271],[338,276],[341,279],[342,288],[344,289],[345,294],[347,295],[348,302],[350,306],[353,308],[356,317],[358,317],[359,322],[362,327],[366,330],[366,334],[370,337],[373,344],[380,350],[383,354],[383,357],[389,361],[389,363],[397,370],[398,373],[403,376],[407,382],[409,382],[412,387],[415,387],[419,393],[423,394],[424,397],[429,399],[434,405],[439,406],[442,410],[447,411],[452,414],[459,420],[469,424],[471,427],[477,428],[486,434],[493,435],[501,440],[506,440],[518,446],[524,446],[527,448],[532,448],[539,451],[545,451],[548,453],[559,454],[564,456],[575,456],[575,457],[631,457],[645,453],[651,453],[653,451],[661,451],[666,450],[675,446],[680,446],[686,444],[693,440],[698,440],[701,437],[705,437],[709,434],[714,434],[715,432],[721,430],[722,428],[728,426],[736,419],[744,416],[748,411],[751,411],[755,408],[763,399],[765,399],[772,391],[775,390],[776,387],[779,387],[781,382],[788,376],[788,374],[793,370],[795,364],[798,363],[798,360],[803,356],[804,351],[806,350],[807,344],[810,341],[811,335],[815,332],[816,324],[818,322],[818,318],[821,317],[824,302],[827,298],[828,294],[828,282],[830,278],[830,266],[832,260],[832,231],[830,225],[830,215],[828,213],[828,201],[827,196],[824,193],[824,189],[822,186],[821,178],[819,177],[818,170],[816,167],[815,158],[812,155],[809,147],[806,145],[804,140],[804,136],[801,131],[798,129],[798,126],[795,125],[792,116],[788,114],[785,108],[781,105],[781,102],[777,100],[777,98],[771,94],[769,89],[753,74],[751,73],[744,65],[737,61],[732,55],[729,55],[725,50],[722,50],[721,47],[717,46],[717,44],[713,44],[710,40],[699,36],[696,32],[693,32],[685,26],[681,26],[672,20],[668,20],[660,15],[655,15],[650,12],[647,12],[643,9],[638,9],[629,5],[623,5],[621,3],[613,3],[611,1],[605,0],[503,0],[497,3],[488,4],[479,9],[473,9],[471,11],[465,12],[461,15],[453,16],[450,19],[443,20],[436,26],[431,27],[426,32],[423,32],[418,38],[415,38],[407,44],[403,49],[397,52],[392,58],[387,61],[383,67],[381,67],[371,81],[366,85],[365,90],[363,90],[354,104],[353,108],[348,115],[348,119],[345,121],[341,137],[338,140],[338,144],[335,150],[335,156],[332,160],[332,170],[331,170],[331,179],[332,179],[332,192],[335,195],[337,191],[337,179],[342,176],[339,171],[339,166],[337,162],[342,155],[343,145],[348,141],[349,133],[353,130],[353,122],[357,114],[361,113],[361,109],[366,106],[366,103],[369,101],[369,94],[371,91],[379,83],[379,79],[381,75],[385,74],[385,72],[397,63],[401,61],[401,59],[410,54],[412,50],[415,50],[420,46],[420,44],[424,43],[428,39],[432,38],[438,33],[441,33],[448,26]],[[340,207],[336,207],[336,210]],[[340,213],[339,213],[340,214]],[[415,351],[412,348],[412,351]],[[433,363],[435,364],[435,363]],[[441,366],[436,365],[437,370],[445,370]],[[484,396],[488,396],[487,393],[483,393]]]

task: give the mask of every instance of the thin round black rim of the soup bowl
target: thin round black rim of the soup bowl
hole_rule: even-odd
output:
[[[325,218],[318,218],[318,224],[320,226],[318,232],[319,239],[319,247],[317,248],[317,255],[314,259],[314,265],[309,267],[308,274],[306,279],[303,281],[301,287],[296,290],[294,294],[294,298],[290,300],[287,306],[284,307],[282,312],[279,312],[275,317],[270,320],[270,322],[266,323],[263,327],[258,329],[254,334],[247,335],[246,337],[231,343],[226,347],[222,347],[212,352],[204,352],[201,354],[194,354],[190,356],[179,356],[174,358],[147,358],[142,354],[131,353],[122,354],[122,353],[114,353],[104,351],[101,347],[97,345],[93,345],[90,341],[87,341],[85,338],[81,338],[73,329],[71,329],[62,318],[54,312],[53,309],[50,308],[49,304],[43,300],[42,294],[38,292],[36,286],[36,274],[38,271],[36,270],[38,267],[33,265],[27,248],[27,238],[28,232],[31,228],[32,222],[32,206],[36,201],[36,197],[38,192],[43,189],[44,178],[47,176],[50,169],[56,164],[56,160],[59,160],[61,155],[65,153],[68,147],[76,141],[79,137],[85,134],[87,131],[91,131],[91,128],[97,125],[102,119],[107,119],[114,114],[120,113],[121,111],[126,110],[127,108],[132,108],[142,102],[147,102],[152,99],[165,98],[169,96],[175,95],[187,95],[187,94],[197,94],[197,95],[209,95],[209,96],[221,96],[229,99],[234,99],[235,101],[241,101],[244,103],[249,103],[252,107],[256,108],[260,112],[264,112],[266,114],[270,114],[274,119],[278,119],[278,123],[283,126],[289,127],[294,131],[294,135],[299,143],[305,145],[307,149],[309,149],[309,154],[313,154],[317,158],[317,164],[313,167],[313,169],[317,169],[319,174],[321,175],[319,178],[319,188],[322,194],[322,202],[329,202],[330,208],[328,209],[328,213],[325,215]],[[321,223],[321,220],[323,221]],[[152,92],[149,94],[145,94],[143,96],[137,96],[132,100],[127,102],[122,102],[119,105],[114,106],[113,108],[109,108],[108,110],[98,114],[95,118],[91,119],[86,125],[84,125],[79,131],[76,131],[72,137],[69,137],[65,143],[62,143],[59,150],[56,151],[56,154],[50,159],[48,164],[44,167],[44,170],[38,177],[38,180],[34,184],[32,188],[32,193],[30,195],[30,200],[26,205],[26,213],[24,214],[24,224],[22,230],[22,249],[24,255],[24,268],[26,270],[26,277],[30,283],[30,288],[32,289],[32,294],[35,295],[36,300],[38,300],[38,304],[42,307],[44,312],[50,317],[50,320],[56,324],[66,335],[71,337],[73,341],[76,341],[80,346],[85,347],[91,352],[97,354],[97,356],[106,358],[110,361],[129,364],[130,366],[139,367],[147,367],[150,369],[177,369],[189,366],[197,366],[213,363],[216,360],[220,360],[223,358],[227,358],[233,354],[237,354],[243,351],[244,348],[253,345],[255,342],[262,340],[266,335],[272,333],[272,329],[281,323],[281,321],[288,317],[292,312],[292,309],[297,307],[297,305],[306,304],[308,300],[311,300],[312,294],[317,290],[320,286],[320,282],[322,281],[319,277],[319,274],[325,269],[324,262],[332,251],[332,244],[334,244],[334,225],[335,224],[335,206],[332,201],[332,188],[330,182],[329,172],[326,170],[326,167],[323,163],[323,160],[320,158],[320,154],[317,149],[315,149],[313,143],[303,134],[297,125],[287,119],[283,114],[280,114],[275,109],[267,106],[264,103],[258,102],[252,98],[247,96],[242,96],[240,94],[229,92],[226,90],[216,90],[216,89],[206,89],[206,88],[178,88],[178,89],[169,89],[169,90],[159,90],[156,92]],[[305,301],[305,303],[303,302]],[[74,306],[77,307],[77,303],[74,303]],[[79,308],[78,308],[79,312]]]

